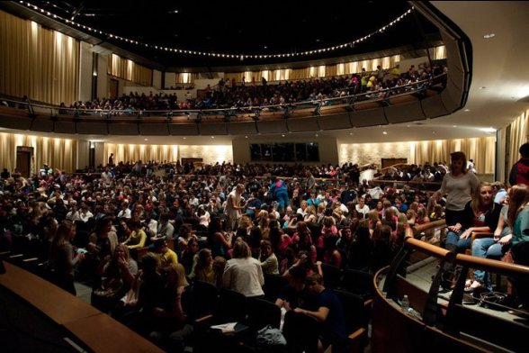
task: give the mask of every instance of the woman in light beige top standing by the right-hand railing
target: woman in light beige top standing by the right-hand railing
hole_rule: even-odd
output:
[[[446,195],[444,213],[446,226],[449,228],[462,222],[465,205],[471,201],[471,195],[480,185],[478,177],[468,172],[467,158],[463,152],[453,152],[450,156],[450,173],[444,175],[441,188],[433,195],[437,199]]]

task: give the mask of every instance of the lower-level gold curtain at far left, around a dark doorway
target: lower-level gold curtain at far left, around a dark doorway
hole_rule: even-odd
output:
[[[16,167],[16,147],[33,148],[33,173],[47,163],[49,167],[73,173],[76,170],[77,142],[69,139],[0,133],[0,166],[13,171]]]

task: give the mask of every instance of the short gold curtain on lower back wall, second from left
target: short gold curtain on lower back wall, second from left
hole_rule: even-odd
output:
[[[110,154],[114,154],[114,162],[136,162],[141,159],[175,162],[178,159],[178,145],[132,145],[105,143],[103,160],[108,160]]]

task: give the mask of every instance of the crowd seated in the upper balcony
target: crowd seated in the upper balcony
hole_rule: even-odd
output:
[[[129,95],[121,95],[119,98],[96,98],[89,102],[77,101],[69,106],[61,104],[67,113],[68,109],[79,112],[98,113],[115,111],[116,114],[148,111],[176,111],[189,109],[242,109],[250,107],[264,107],[270,105],[300,104],[303,102],[319,101],[322,104],[331,104],[329,99],[351,95],[360,95],[359,99],[388,98],[390,95],[399,95],[411,90],[422,91],[427,86],[435,83],[444,85],[446,72],[444,66],[435,65],[422,68],[411,66],[406,72],[401,72],[399,65],[390,70],[379,68],[373,72],[367,72],[363,68],[359,74],[352,76],[330,77],[327,79],[310,78],[309,80],[297,80],[276,84],[268,84],[264,77],[261,82],[255,80],[249,83],[244,81],[240,84],[233,79],[221,78],[218,85],[206,86],[203,95],[193,98],[189,92],[178,97],[174,94],[150,95],[130,92]],[[439,77],[439,82],[433,82],[434,77]],[[427,85],[424,84],[427,81]],[[413,86],[415,82],[423,82],[422,85]],[[407,86],[408,85],[408,86]],[[401,87],[401,88],[399,88]],[[363,94],[363,95],[362,95]]]

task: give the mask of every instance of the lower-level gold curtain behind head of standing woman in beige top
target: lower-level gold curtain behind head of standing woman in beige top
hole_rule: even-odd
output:
[[[493,174],[495,167],[496,137],[455,140],[427,140],[412,142],[410,163],[450,162],[450,153],[461,150],[467,159],[473,159],[479,174]]]

